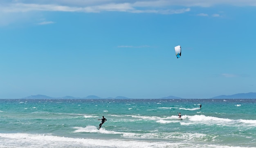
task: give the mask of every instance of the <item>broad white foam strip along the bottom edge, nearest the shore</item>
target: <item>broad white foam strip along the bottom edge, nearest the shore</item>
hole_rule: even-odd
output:
[[[140,141],[129,139],[84,139],[58,137],[52,135],[31,135],[31,134],[1,134],[1,147],[19,147],[19,148],[34,148],[34,147],[108,147],[108,148],[164,148],[164,147],[195,147],[195,144],[184,142],[168,142],[168,141]],[[4,139],[4,140],[2,140]]]

